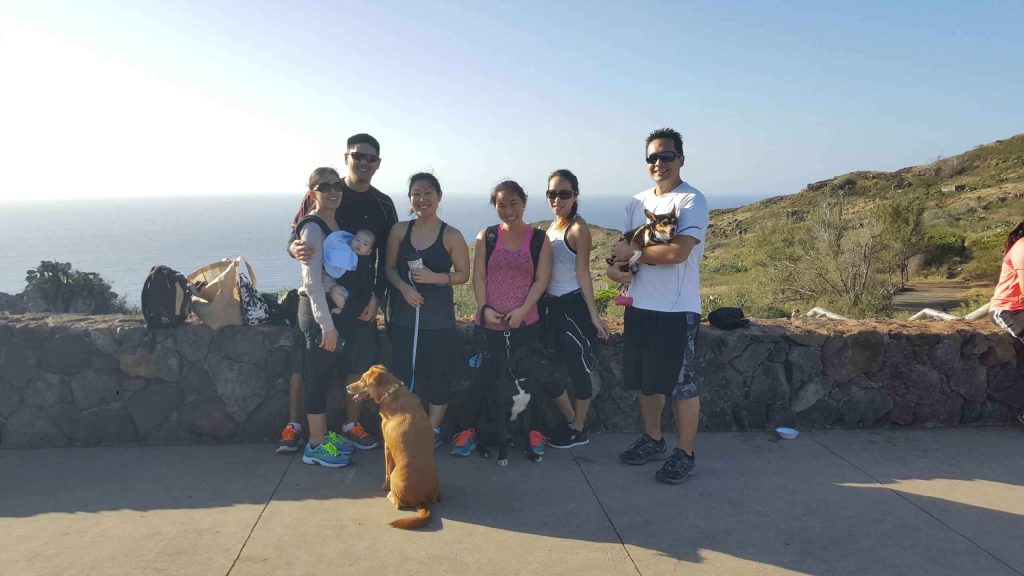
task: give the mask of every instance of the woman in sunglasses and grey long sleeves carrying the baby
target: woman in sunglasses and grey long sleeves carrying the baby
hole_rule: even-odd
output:
[[[308,261],[299,260],[302,287],[299,288],[299,329],[305,336],[306,352],[303,383],[309,442],[302,461],[328,467],[349,462],[352,446],[335,433],[327,430],[327,388],[337,362],[338,326],[341,318],[331,315],[328,300],[330,286],[325,284],[324,240],[339,230],[335,214],[341,205],[344,184],[334,168],[316,168],[309,176],[312,209],[295,223],[293,240],[302,240],[312,248]]]

